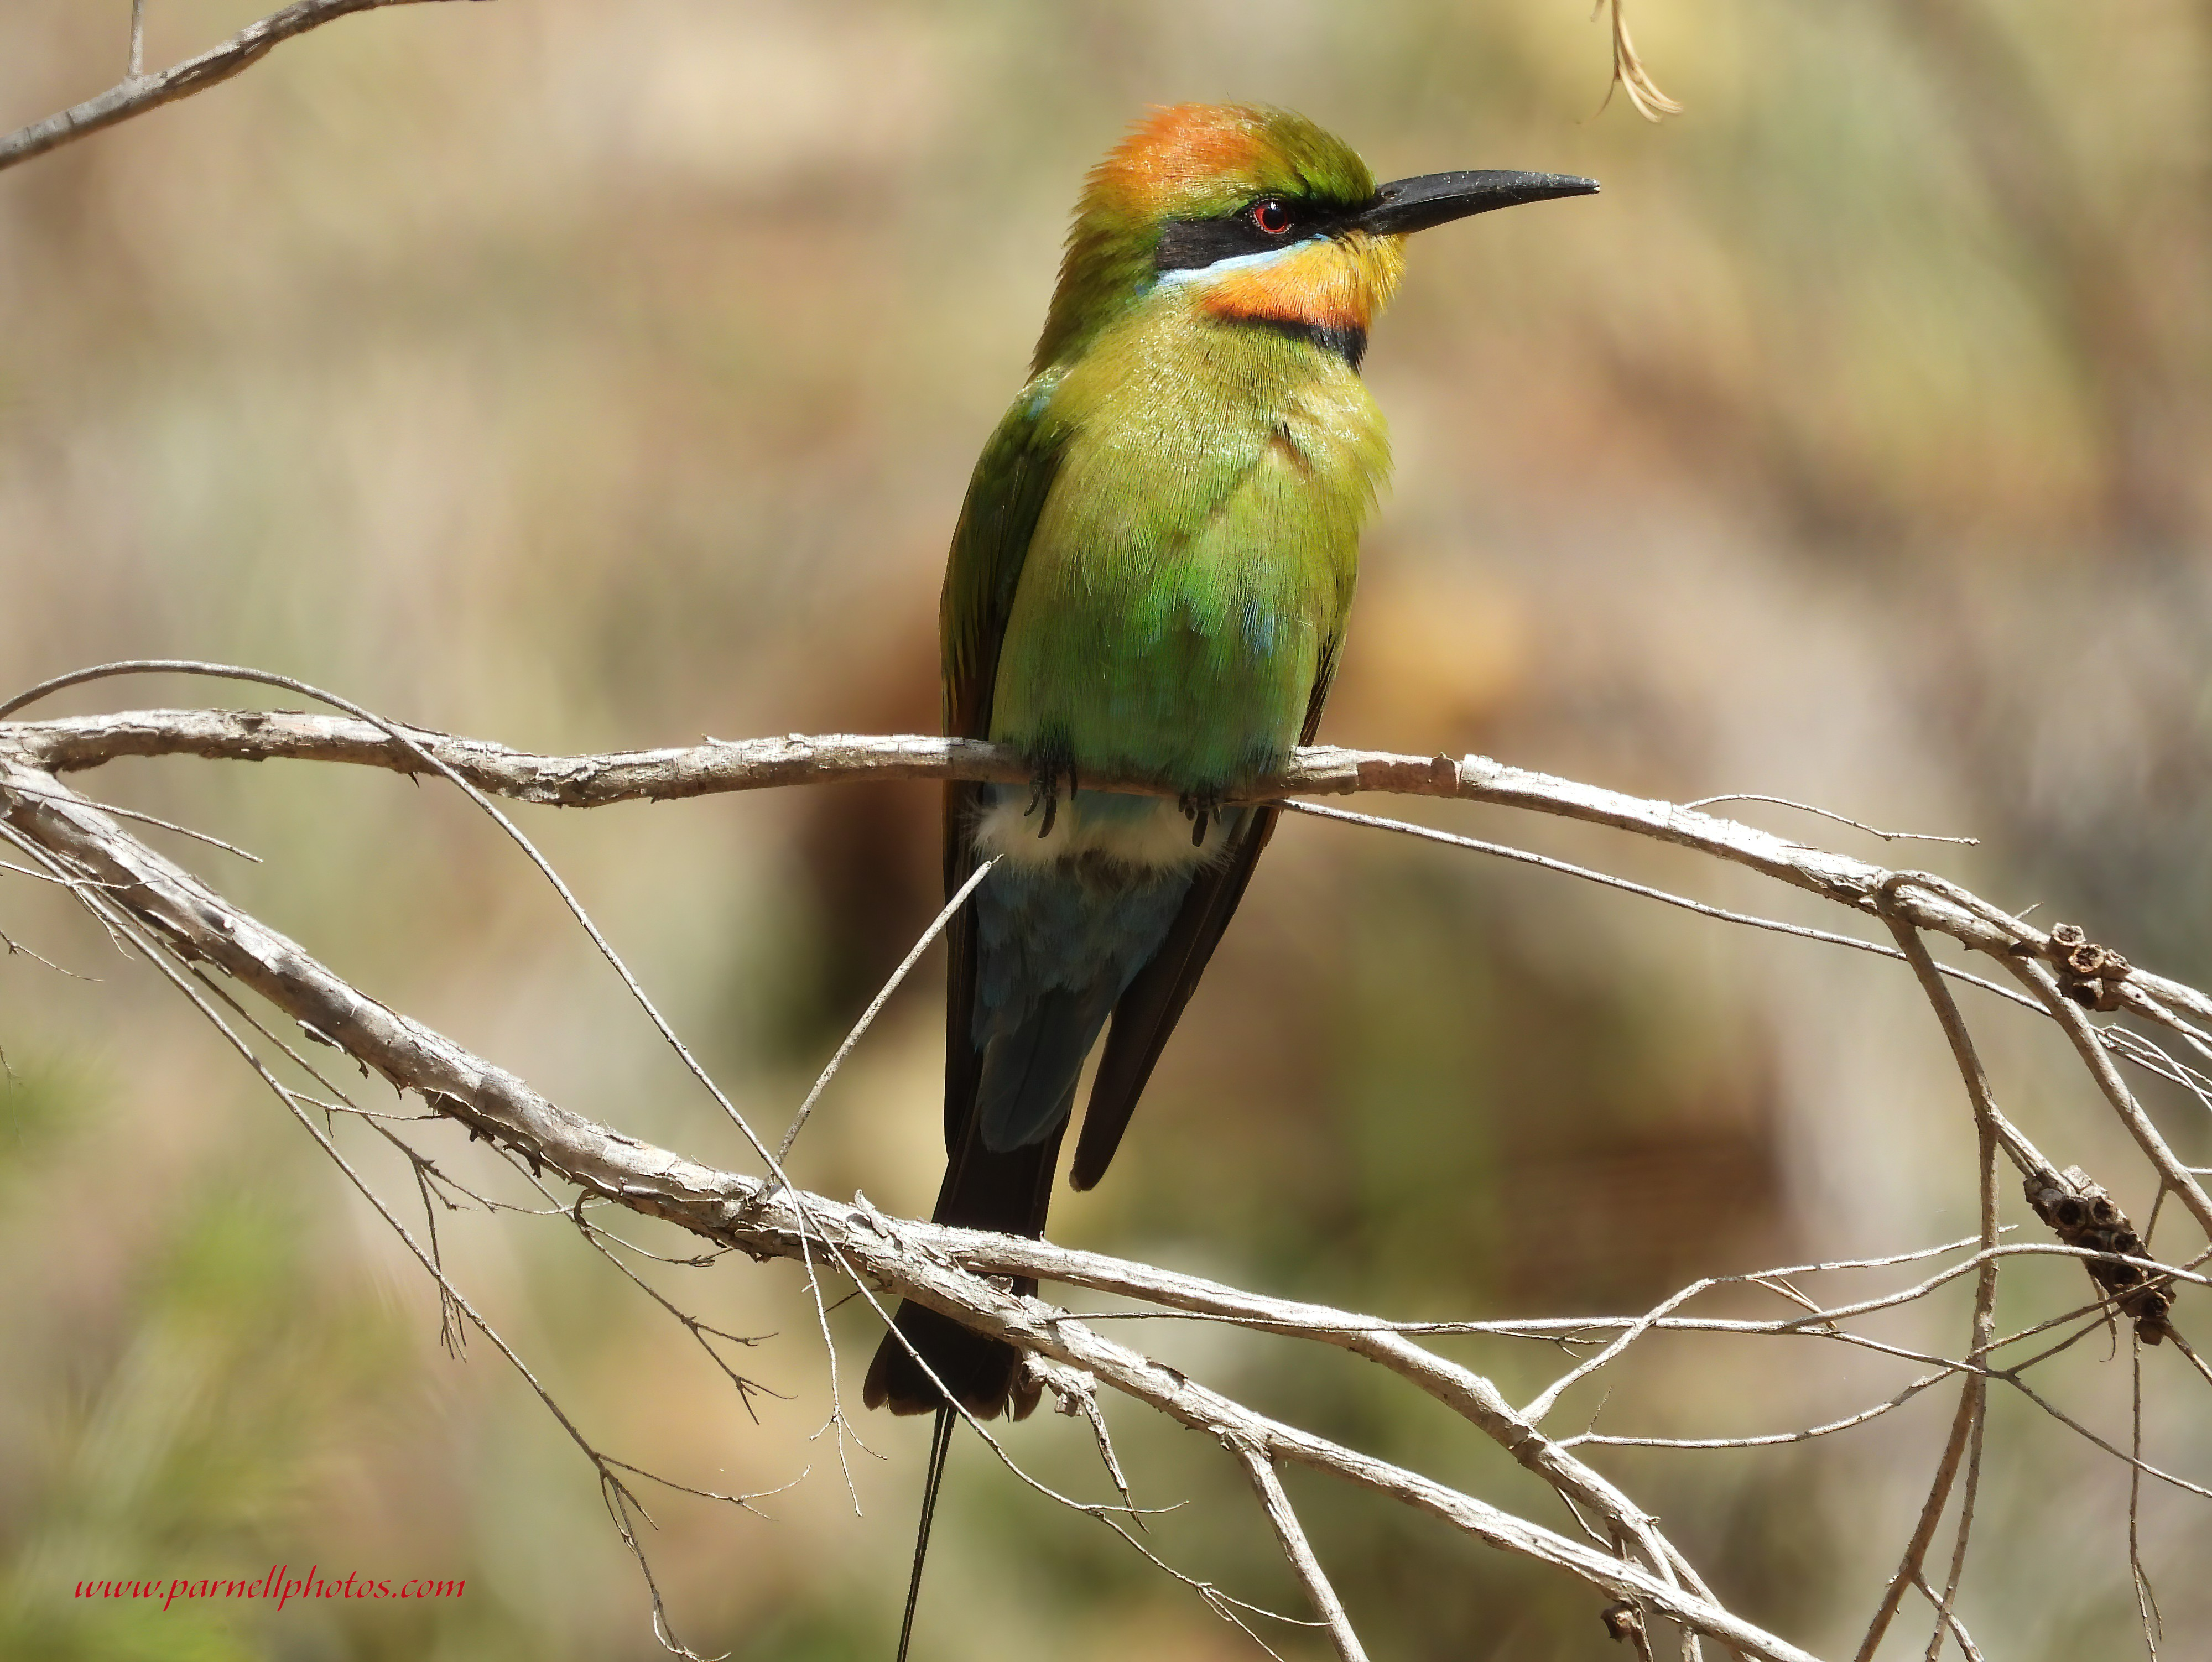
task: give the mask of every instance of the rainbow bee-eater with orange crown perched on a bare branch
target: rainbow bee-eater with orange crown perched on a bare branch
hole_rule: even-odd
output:
[[[1274,810],[1234,799],[1314,737],[1389,469],[1358,367],[1407,235],[1590,190],[1378,186],[1305,117],[1241,104],[1155,111],[1093,168],[945,573],[945,730],[1011,746],[1033,781],[945,792],[947,898],[998,865],[947,929],[938,1222],[1044,1233],[1106,1031],[1071,1171],[1099,1180],[1252,879]],[[1130,781],[1166,794],[1095,788]],[[933,1489],[931,1372],[978,1416],[1035,1390],[1011,1346],[905,1306],[867,1403],[940,1410]]]

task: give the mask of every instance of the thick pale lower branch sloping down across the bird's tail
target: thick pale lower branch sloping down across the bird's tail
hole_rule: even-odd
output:
[[[1624,1540],[1648,1551],[1655,1569],[1621,1562],[1418,1472],[1254,1414],[1037,1299],[1013,1297],[960,1264],[984,1244],[987,1250],[1044,1266],[1046,1279],[1062,1279],[1051,1261],[1066,1255],[1044,1242],[894,1224],[867,1206],[838,1206],[772,1180],[699,1166],[560,1109],[504,1069],[349,987],[296,943],[246,916],[181,868],[137,843],[91,803],[69,801],[73,792],[51,775],[27,779],[24,772],[20,764],[0,764],[0,797],[7,799],[0,823],[11,832],[62,865],[106,883],[102,892],[106,903],[126,912],[177,956],[221,969],[383,1073],[394,1087],[422,1093],[438,1113],[513,1149],[533,1166],[551,1168],[588,1193],[757,1257],[807,1261],[814,1255],[834,1255],[874,1288],[918,1299],[960,1321],[1004,1334],[1024,1350],[1082,1368],[1192,1430],[1376,1489],[1493,1547],[1566,1569],[1608,1598],[1637,1600],[1745,1655],[1805,1662],[1805,1651],[1743,1622],[1694,1582],[1683,1585],[1677,1571],[1679,1554],[1659,1538],[1652,1523],[1601,1476],[1579,1467],[1533,1427],[1515,1423],[1495,1385],[1469,1370],[1431,1359],[1431,1372],[1458,1385],[1473,1423],[1500,1436],[1533,1469],[1557,1472],[1559,1481],[1571,1485],[1577,1505],[1588,1505]],[[15,783],[29,783],[33,790],[15,794],[11,790]],[[1152,1275],[1166,1277],[1166,1273]],[[1356,1343],[1383,1350],[1396,1343],[1411,1350],[1411,1343],[1396,1334],[1360,1334]]]

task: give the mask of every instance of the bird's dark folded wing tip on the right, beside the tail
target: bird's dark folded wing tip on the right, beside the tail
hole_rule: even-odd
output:
[[[1321,653],[1314,690],[1305,702],[1305,726],[1298,744],[1312,744],[1321,726],[1321,706],[1329,697],[1329,682],[1336,677],[1336,648],[1343,635],[1332,635]],[[1206,974],[1206,960],[1214,956],[1221,932],[1230,927],[1237,903],[1259,854],[1274,837],[1279,808],[1254,808],[1245,821],[1243,837],[1228,859],[1203,868],[1190,883],[1183,910],[1175,914],[1168,938],[1152,960],[1137,972],[1137,978],[1121,994],[1113,1009],[1113,1027],[1106,1031],[1106,1053],[1099,1058],[1097,1078],[1091,1082],[1091,1104],[1084,1109],[1084,1133],[1075,1144],[1075,1162],[1068,1168],[1068,1184],[1091,1188],[1106,1175],[1128,1115],[1144,1095],[1144,1082],[1152,1078],[1152,1064],[1166,1049],[1175,1022],[1190,1003],[1190,994]]]

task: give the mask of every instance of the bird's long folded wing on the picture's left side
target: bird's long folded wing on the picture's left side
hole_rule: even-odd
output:
[[[1022,580],[1022,560],[1037,529],[1037,513],[1060,471],[1064,434],[1051,420],[1060,370],[1046,370],[1013,401],[975,463],[953,551],[945,567],[938,611],[945,675],[945,733],[956,739],[991,737],[991,688],[1006,613]],[[982,786],[945,786],[945,898],[975,870],[975,819]],[[975,923],[964,905],[945,929],[945,1153],[956,1160],[975,1109]]]

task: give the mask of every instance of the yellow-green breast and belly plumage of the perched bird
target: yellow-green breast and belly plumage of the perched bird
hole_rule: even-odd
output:
[[[978,600],[1006,606],[989,737],[1192,792],[1279,764],[1334,664],[1389,467],[1358,374],[1310,341],[1194,316],[1164,285],[1031,383],[1011,427],[1033,438],[1002,469],[991,447],[971,518],[1011,518],[1024,460],[1055,458],[1011,595],[967,571],[998,540],[960,538],[947,582],[949,640],[989,635]]]

